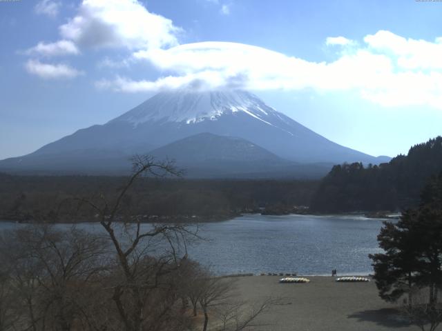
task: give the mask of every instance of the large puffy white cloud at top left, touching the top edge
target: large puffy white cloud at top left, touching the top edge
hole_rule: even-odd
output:
[[[60,26],[61,36],[78,46],[131,50],[175,46],[180,32],[137,0],[83,0],[77,16]]]

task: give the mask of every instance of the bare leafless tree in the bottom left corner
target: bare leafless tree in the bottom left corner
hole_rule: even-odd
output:
[[[15,326],[72,330],[85,317],[91,279],[106,269],[105,250],[102,238],[75,228],[29,225],[3,233],[0,260],[17,298]]]

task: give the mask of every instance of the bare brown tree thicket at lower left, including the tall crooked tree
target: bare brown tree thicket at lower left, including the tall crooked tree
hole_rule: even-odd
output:
[[[214,277],[187,257],[189,241],[200,239],[196,225],[143,223],[131,212],[128,192],[137,179],[180,171],[152,157],[137,156],[133,165],[113,199],[75,199],[78,209],[87,206],[97,214],[99,233],[59,230],[44,217],[39,225],[3,232],[0,330],[189,331],[198,305],[204,331],[209,315],[215,330],[255,325],[271,301],[231,301],[233,281]],[[57,218],[58,212],[51,214]]]

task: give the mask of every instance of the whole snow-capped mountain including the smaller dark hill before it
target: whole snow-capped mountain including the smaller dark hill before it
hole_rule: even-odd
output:
[[[192,177],[317,177],[334,163],[390,160],[329,141],[249,92],[173,90],[104,125],[0,161],[0,170],[119,174],[136,153],[176,159]]]

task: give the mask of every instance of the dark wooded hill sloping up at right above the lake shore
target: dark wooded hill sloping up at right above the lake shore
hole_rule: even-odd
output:
[[[442,170],[442,137],[410,148],[390,163],[335,165],[312,197],[315,212],[403,210],[419,203],[421,189]]]

